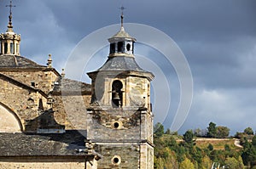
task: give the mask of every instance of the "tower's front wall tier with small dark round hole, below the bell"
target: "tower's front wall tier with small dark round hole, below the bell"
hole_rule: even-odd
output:
[[[98,141],[140,140],[141,116],[133,110],[87,111],[87,138]]]

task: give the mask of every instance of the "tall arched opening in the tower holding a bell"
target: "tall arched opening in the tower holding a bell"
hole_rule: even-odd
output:
[[[116,80],[112,83],[112,103],[113,107],[122,107],[123,105],[123,83]]]

